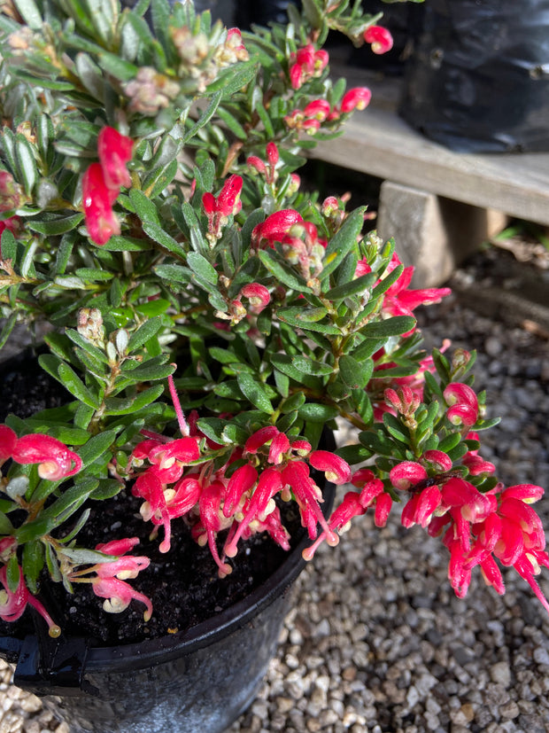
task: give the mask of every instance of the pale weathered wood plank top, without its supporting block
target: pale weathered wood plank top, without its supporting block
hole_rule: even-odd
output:
[[[367,72],[355,72],[352,82],[373,88],[372,104],[354,115],[344,136],[319,144],[314,158],[549,225],[549,153],[452,152],[398,117],[394,86],[383,91]]]

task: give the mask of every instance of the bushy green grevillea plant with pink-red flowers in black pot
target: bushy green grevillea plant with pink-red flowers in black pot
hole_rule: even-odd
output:
[[[67,391],[0,425],[2,619],[31,605],[58,634],[49,581],[150,618],[128,582],[150,564],[138,540],[79,543],[117,494],[139,497],[171,563],[189,532],[220,576],[251,534],[290,547],[283,503],[310,559],[404,502],[403,525],[448,548],[458,596],[476,566],[503,593],[512,565],[549,611],[542,489],[504,487],[483,459],[496,421],[474,354],[421,347],[414,308],[449,291],[411,288],[363,208],[300,188],[304,152],[370,99],[329,77],[329,30],[390,49],[360,5],[305,0],[253,34],[166,0],[2,5],[0,342],[49,324],[40,363]],[[355,444],[327,450],[337,419]],[[319,474],[348,486],[328,518]]]

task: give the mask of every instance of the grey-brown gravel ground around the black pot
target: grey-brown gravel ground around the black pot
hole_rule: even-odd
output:
[[[427,309],[421,322],[436,346],[449,337],[456,347],[479,349],[476,386],[487,389],[490,414],[504,417],[486,433],[483,457],[499,465],[507,484],[549,488],[543,308],[537,321],[520,309],[506,320],[499,320],[500,308],[482,315],[468,307],[476,304],[482,277],[478,263],[460,270],[454,282],[460,296]],[[549,526],[549,498],[537,511]],[[441,543],[421,528],[406,531],[393,518],[378,530],[368,516],[357,519],[298,580],[267,680],[228,733],[549,730],[544,609],[514,571],[506,573],[504,597],[476,574],[468,597],[457,599],[446,580],[447,560]],[[540,584],[549,595],[547,571]],[[0,675],[0,733],[67,733],[37,698],[10,685],[8,669]]]

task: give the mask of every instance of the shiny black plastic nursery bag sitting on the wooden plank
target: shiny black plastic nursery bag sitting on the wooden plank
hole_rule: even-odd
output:
[[[549,151],[549,0],[427,0],[400,114],[458,152]]]

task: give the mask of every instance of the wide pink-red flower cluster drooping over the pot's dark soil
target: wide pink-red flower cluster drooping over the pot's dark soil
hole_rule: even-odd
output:
[[[172,378],[170,387],[182,416]],[[225,462],[216,468],[221,446],[201,441],[204,436],[196,417],[192,416],[190,425],[181,417],[183,431],[189,434],[169,441],[162,436],[147,438],[130,456],[129,475],[136,477],[132,492],[143,499],[143,519],[164,529],[161,552],[170,550],[171,522],[177,518],[185,519],[199,544],[208,544],[220,577],[231,573],[227,558],[234,558],[238,542],[251,534],[267,532],[289,550],[290,535],[282,526],[277,495],[285,502],[293,495],[311,539],[320,523],[328,542],[338,542],[322,514],[321,490],[310,469],[344,484],[351,478],[351,468],[341,457],[328,450],[313,450],[309,441],[291,439],[275,425],[267,425],[252,433],[244,448],[227,451]],[[228,532],[220,555],[217,539],[224,530]]]

